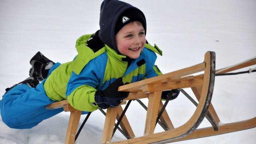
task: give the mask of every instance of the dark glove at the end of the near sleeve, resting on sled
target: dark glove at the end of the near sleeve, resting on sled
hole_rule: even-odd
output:
[[[126,83],[127,84],[127,83]],[[123,86],[122,78],[116,79],[105,90],[97,90],[95,93],[95,102],[102,109],[116,107],[121,104],[124,98],[127,98],[130,92],[118,92],[118,87]]]

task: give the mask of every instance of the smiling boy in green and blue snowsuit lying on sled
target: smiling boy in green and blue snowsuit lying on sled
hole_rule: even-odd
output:
[[[32,128],[63,111],[47,110],[46,105],[65,99],[85,112],[118,106],[129,94],[118,92],[119,86],[162,74],[154,65],[155,53],[162,52],[145,36],[142,11],[125,2],[104,0],[100,30],[78,38],[78,55],[72,62],[55,64],[38,52],[30,60],[30,77],[6,88],[0,101],[3,122],[10,128]],[[163,92],[163,98],[169,93]],[[177,96],[178,92],[172,99]]]

